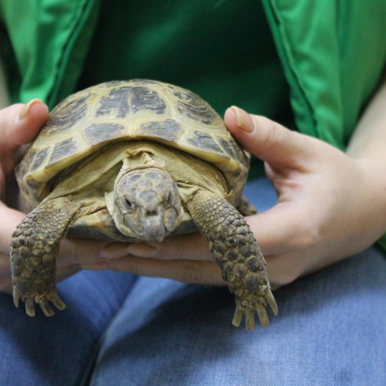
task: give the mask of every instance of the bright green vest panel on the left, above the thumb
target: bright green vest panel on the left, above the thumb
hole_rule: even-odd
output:
[[[97,0],[0,1],[0,18],[16,59],[10,63],[17,63],[7,72],[14,75],[9,80],[13,102],[39,97],[53,107],[74,90],[97,5]]]

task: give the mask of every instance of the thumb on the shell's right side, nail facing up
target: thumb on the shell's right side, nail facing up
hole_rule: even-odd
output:
[[[313,153],[311,137],[239,107],[228,108],[224,122],[241,147],[270,166],[302,167],[304,159]]]

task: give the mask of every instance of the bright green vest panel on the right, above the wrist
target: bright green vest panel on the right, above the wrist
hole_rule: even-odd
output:
[[[339,148],[386,61],[384,0],[263,0],[297,128]]]

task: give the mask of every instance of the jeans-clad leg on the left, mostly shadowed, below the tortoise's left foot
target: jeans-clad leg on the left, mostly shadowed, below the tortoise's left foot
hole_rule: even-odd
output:
[[[80,272],[58,285],[67,307],[52,318],[42,312],[31,318],[15,308],[11,296],[1,294],[0,385],[79,385],[135,279]]]

